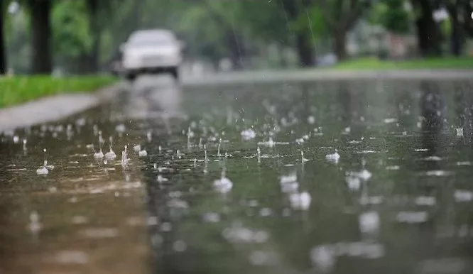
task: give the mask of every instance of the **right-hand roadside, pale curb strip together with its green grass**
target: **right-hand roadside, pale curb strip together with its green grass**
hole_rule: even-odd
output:
[[[295,70],[244,70],[185,75],[183,84],[214,85],[264,82],[310,82],[325,80],[466,80],[473,79],[473,57],[442,57],[417,60],[358,58],[337,65]]]

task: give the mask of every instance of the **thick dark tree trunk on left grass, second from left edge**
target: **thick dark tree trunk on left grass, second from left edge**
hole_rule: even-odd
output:
[[[33,38],[33,54],[31,70],[34,74],[50,74],[53,70],[51,52],[51,1],[29,0],[31,9],[31,31]]]

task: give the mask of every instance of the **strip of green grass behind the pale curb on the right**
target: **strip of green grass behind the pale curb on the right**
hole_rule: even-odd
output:
[[[379,60],[377,58],[360,58],[340,62],[331,68],[335,70],[473,70],[473,57],[443,57],[404,61]]]

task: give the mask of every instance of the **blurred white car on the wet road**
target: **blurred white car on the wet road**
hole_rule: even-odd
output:
[[[122,70],[129,80],[143,73],[168,72],[177,80],[183,43],[172,31],[151,29],[131,33],[120,47]]]

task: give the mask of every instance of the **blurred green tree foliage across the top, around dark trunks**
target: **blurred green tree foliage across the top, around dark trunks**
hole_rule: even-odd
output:
[[[35,50],[32,43],[38,43],[39,38],[34,30],[40,29],[36,25],[42,22],[36,18],[31,24],[33,4],[38,8],[37,4],[45,0],[16,0],[21,6],[16,15],[5,12],[12,1],[15,0],[1,1],[6,45],[2,51],[9,53],[11,65],[21,67],[26,56],[38,57],[26,55],[25,50]],[[228,57],[237,67],[245,58],[266,56],[271,46],[290,49],[300,65],[312,64],[320,43],[331,44],[339,58],[344,59],[347,34],[362,18],[394,33],[415,31],[420,52],[425,55],[440,53],[440,45],[448,37],[442,33],[450,35],[452,48],[456,49],[452,51],[457,53],[462,51],[466,38],[473,36],[473,20],[469,18],[473,4],[469,0],[48,1],[52,4],[55,64],[72,72],[76,71],[73,65],[81,62],[97,64],[82,66],[83,72],[96,71],[98,65],[107,67],[110,60],[119,56],[119,45],[137,28],[170,28],[185,40],[187,57],[214,64]],[[406,4],[413,9],[406,9]],[[450,14],[443,23],[432,16],[440,7]],[[23,28],[30,28],[36,35]],[[48,33],[45,28],[42,31]]]

